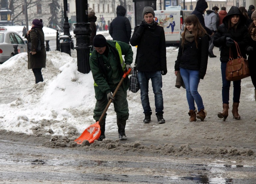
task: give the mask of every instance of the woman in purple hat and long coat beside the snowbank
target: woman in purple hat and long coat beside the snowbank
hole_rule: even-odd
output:
[[[42,68],[46,65],[46,51],[44,46],[43,20],[35,19],[32,28],[28,30],[25,38],[31,42],[31,50],[28,49],[28,69],[32,69],[35,75],[35,83],[43,82]],[[38,36],[41,40],[41,50],[37,51]]]

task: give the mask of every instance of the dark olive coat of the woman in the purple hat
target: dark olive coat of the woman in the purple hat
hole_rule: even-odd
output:
[[[28,53],[28,68],[45,68],[46,64],[46,51],[44,46],[44,32],[42,29],[35,28],[38,32],[38,35],[41,40],[41,52],[37,52],[36,54],[32,55],[31,53]],[[37,43],[38,43],[38,37],[35,32],[35,29],[31,29],[31,32],[29,35],[26,35],[25,38],[27,38],[28,42],[31,42],[31,51],[36,51]]]

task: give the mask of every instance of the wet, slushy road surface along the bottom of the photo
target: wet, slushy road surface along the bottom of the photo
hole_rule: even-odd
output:
[[[1,183],[255,183],[256,168],[0,140]],[[197,162],[200,164],[191,164]],[[220,162],[220,161],[219,161]]]

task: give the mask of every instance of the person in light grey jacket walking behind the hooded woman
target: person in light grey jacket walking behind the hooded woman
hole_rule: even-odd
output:
[[[218,12],[218,7],[215,6],[213,7],[215,8],[215,10],[217,10]],[[215,56],[213,54],[213,48],[214,48],[214,45],[212,43],[213,41],[213,37],[214,37],[214,34],[217,32],[217,26],[216,26],[216,23],[217,23],[217,15],[215,13],[215,10],[207,10],[206,11],[206,16],[204,17],[204,23],[205,23],[205,26],[207,28],[209,28],[213,34],[211,35],[211,40],[209,41],[209,50],[208,50],[208,55],[210,58],[215,58],[217,56]]]

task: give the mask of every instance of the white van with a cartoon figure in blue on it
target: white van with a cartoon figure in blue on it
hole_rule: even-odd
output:
[[[165,33],[166,44],[179,44],[181,33],[184,31],[184,19],[192,10],[158,10],[154,20],[162,26]]]

